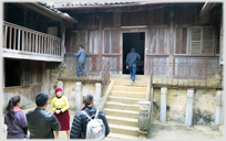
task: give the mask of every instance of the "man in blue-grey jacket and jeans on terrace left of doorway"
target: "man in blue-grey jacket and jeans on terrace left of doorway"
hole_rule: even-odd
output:
[[[86,53],[83,50],[83,46],[81,44],[79,45],[79,52],[74,53],[74,56],[79,56],[78,70],[76,70],[78,77],[80,77],[80,72],[82,72],[84,75],[86,75],[86,72],[84,70],[84,64],[86,62]]]

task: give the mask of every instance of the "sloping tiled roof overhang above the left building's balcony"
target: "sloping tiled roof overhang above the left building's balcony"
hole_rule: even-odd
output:
[[[68,17],[64,17],[62,14],[59,14],[37,2],[21,2],[20,4],[24,6],[24,7],[28,7],[41,14],[44,14],[53,20],[56,20],[56,21],[66,21],[66,22],[72,22],[72,23],[78,23],[78,21],[75,19],[71,19],[71,18],[68,18]]]

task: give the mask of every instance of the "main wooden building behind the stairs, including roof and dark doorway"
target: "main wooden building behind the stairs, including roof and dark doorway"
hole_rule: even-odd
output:
[[[111,73],[127,74],[126,54],[135,47],[142,57],[137,74],[150,75],[152,64],[219,65],[223,56],[222,3],[49,4],[79,21],[73,29],[66,30],[65,61],[82,44],[89,61],[110,61]],[[165,69],[168,76],[175,72],[174,68]]]

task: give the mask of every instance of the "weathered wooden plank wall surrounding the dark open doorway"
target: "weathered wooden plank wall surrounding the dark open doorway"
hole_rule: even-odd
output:
[[[174,4],[142,11],[106,11],[80,13],[71,11],[79,21],[66,33],[66,53],[85,46],[89,61],[110,61],[112,73],[122,73],[123,33],[145,32],[145,74],[151,63],[183,63],[218,59],[219,23],[212,11],[199,17],[203,4]],[[214,17],[214,18],[213,18]],[[122,26],[146,25],[123,29]]]

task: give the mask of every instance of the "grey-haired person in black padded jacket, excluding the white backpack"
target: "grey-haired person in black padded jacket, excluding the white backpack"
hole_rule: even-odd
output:
[[[84,107],[82,108],[82,110],[85,111],[85,113],[89,115],[90,117],[96,113],[96,108],[93,107],[93,100],[94,98],[91,91],[84,93],[83,95]],[[106,121],[106,117],[101,109],[99,109],[99,113],[96,118],[102,119],[105,126],[105,137],[106,137],[110,132],[110,128]],[[76,112],[72,122],[70,139],[85,139],[86,124],[88,124],[88,117],[82,111]]]

